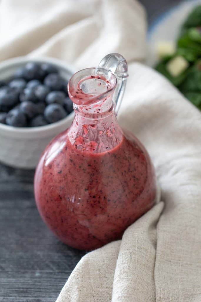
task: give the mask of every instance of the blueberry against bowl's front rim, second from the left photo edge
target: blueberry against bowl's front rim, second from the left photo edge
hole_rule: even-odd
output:
[[[20,111],[20,108],[14,108],[8,112],[6,124],[14,127],[25,127],[27,125],[27,118]]]

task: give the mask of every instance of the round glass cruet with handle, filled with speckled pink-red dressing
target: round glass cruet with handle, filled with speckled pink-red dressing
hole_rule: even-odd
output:
[[[118,125],[127,62],[117,53],[68,83],[74,120],[44,150],[34,192],[42,219],[66,244],[96,249],[120,239],[155,203],[156,178],[140,141]]]

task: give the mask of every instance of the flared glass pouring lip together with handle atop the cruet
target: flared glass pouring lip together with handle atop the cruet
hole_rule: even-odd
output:
[[[118,53],[111,53],[101,60],[98,67],[76,72],[68,82],[68,95],[75,105],[82,106],[82,110],[87,113],[106,112],[115,103],[117,114],[127,77],[125,58]],[[98,107],[96,112],[94,108]]]

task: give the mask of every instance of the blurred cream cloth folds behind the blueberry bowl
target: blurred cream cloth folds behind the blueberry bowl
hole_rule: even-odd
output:
[[[53,56],[86,68],[108,53],[128,61],[146,56],[145,11],[125,0],[2,0],[0,59]],[[15,47],[13,47],[15,45]]]

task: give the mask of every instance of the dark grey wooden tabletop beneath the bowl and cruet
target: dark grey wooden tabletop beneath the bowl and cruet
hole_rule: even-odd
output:
[[[149,22],[179,0],[141,1]],[[0,146],[1,147],[1,146]],[[0,301],[52,302],[85,254],[61,243],[42,222],[34,171],[0,164]]]

